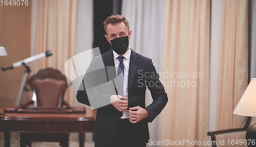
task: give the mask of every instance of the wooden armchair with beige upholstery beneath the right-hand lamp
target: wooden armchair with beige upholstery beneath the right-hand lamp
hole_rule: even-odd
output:
[[[207,135],[211,137],[211,141],[212,142],[215,141],[215,143],[211,143],[211,146],[212,147],[247,146],[244,142],[240,144],[239,141],[245,140],[246,131],[252,124],[255,124],[255,120],[251,121],[251,117],[247,117],[243,128],[208,132]],[[223,140],[225,142],[220,143],[220,141],[223,141]],[[232,140],[234,140],[234,142],[231,143]],[[238,142],[236,143],[237,140]]]

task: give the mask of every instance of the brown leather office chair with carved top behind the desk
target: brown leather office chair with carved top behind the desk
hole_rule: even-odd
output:
[[[41,69],[26,82],[36,94],[36,101],[26,105],[39,107],[70,107],[63,99],[68,87],[66,77],[53,68]],[[60,146],[69,145],[69,133],[20,133],[20,146],[25,147],[33,141],[59,142]]]

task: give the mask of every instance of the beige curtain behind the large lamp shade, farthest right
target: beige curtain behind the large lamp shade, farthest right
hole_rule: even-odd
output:
[[[241,128],[245,117],[233,114],[248,76],[248,1],[224,0],[219,59],[217,129]]]

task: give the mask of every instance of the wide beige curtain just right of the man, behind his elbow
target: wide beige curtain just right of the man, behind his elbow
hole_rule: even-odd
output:
[[[208,129],[210,1],[170,0],[166,11],[162,78],[169,101],[161,115],[161,140],[203,143]],[[173,146],[203,146],[191,144]]]

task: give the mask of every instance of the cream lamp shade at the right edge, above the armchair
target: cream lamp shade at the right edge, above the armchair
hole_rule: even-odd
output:
[[[256,116],[256,78],[251,79],[233,113],[243,116]]]

